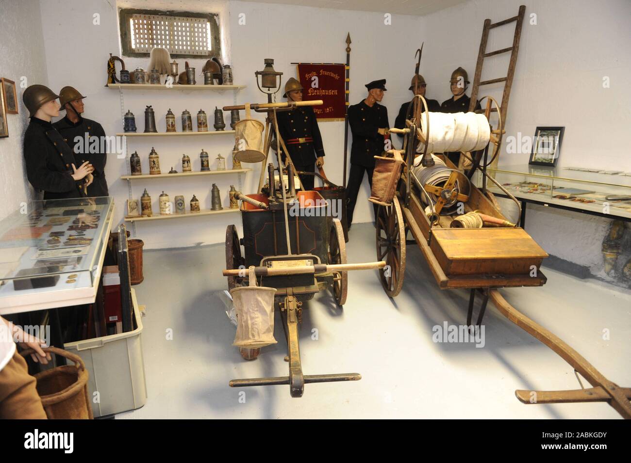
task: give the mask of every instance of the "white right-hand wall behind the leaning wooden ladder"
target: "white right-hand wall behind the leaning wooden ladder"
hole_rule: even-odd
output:
[[[425,40],[422,74],[427,95],[439,101],[449,98],[447,81],[457,66],[463,66],[473,81],[485,18],[510,18],[520,4],[526,5],[526,18],[505,136],[532,136],[538,125],[563,125],[559,166],[631,171],[631,3],[626,0],[470,0],[424,16],[419,23]],[[536,25],[530,25],[533,13]],[[487,51],[509,47],[513,31],[514,23],[493,29]],[[499,56],[485,61],[482,79],[505,76],[509,54]],[[610,88],[603,88],[606,76]],[[483,87],[480,96],[491,94],[500,100],[501,88]],[[507,154],[506,147],[500,167],[528,163],[528,153]],[[512,202],[502,200],[502,205],[515,209]],[[526,217],[526,230],[548,253],[600,275],[601,243],[609,224],[599,217],[532,205]]]

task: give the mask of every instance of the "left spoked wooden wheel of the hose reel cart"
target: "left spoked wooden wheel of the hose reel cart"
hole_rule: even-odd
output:
[[[392,205],[377,211],[377,260],[386,261],[379,269],[379,279],[386,294],[394,297],[403,287],[405,273],[405,224],[401,205],[395,196]]]

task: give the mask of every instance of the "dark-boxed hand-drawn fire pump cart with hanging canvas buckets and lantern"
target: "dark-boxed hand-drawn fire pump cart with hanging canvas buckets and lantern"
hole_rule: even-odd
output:
[[[269,65],[269,69],[267,67]],[[266,60],[268,75],[263,76],[263,87],[280,89],[271,60]],[[263,71],[265,72],[265,71]],[[257,75],[259,73],[257,72]],[[273,79],[265,80],[273,76]],[[257,82],[258,84],[258,82]],[[259,86],[260,88],[261,86]],[[278,90],[276,90],[278,91]],[[264,92],[266,93],[266,92]],[[268,113],[264,149],[260,151],[262,124],[249,118],[235,125],[237,142],[245,142],[237,154],[241,162],[259,162],[264,166],[271,144],[271,132],[275,131],[278,146],[285,146],[278,132],[276,111],[300,105],[322,105],[322,101],[297,103],[268,103],[244,106],[227,106],[224,110],[246,110]],[[239,127],[240,124],[260,125],[261,130]],[[254,121],[254,122],[251,122]],[[271,129],[270,129],[271,127]],[[349,264],[346,261],[346,244],[341,222],[331,217],[331,207],[319,191],[297,191],[295,168],[285,148],[286,174],[281,163],[280,150],[273,163],[264,169],[268,184],[259,191],[244,195],[235,194],[241,200],[240,212],[244,237],[239,239],[235,226],[226,231],[226,267],[228,288],[237,311],[237,334],[233,345],[239,346],[242,357],[253,360],[262,346],[276,343],[274,340],[274,311],[279,311],[288,345],[289,375],[253,379],[234,379],[231,387],[274,386],[288,384],[292,397],[301,397],[305,384],[315,382],[351,381],[361,379],[357,373],[304,375],[298,346],[298,323],[302,321],[304,303],[321,290],[331,290],[338,306],[343,306],[348,294],[347,272],[383,268],[384,262]],[[244,253],[241,253],[241,246]]]

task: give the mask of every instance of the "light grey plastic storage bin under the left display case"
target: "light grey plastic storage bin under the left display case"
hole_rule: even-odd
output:
[[[136,320],[133,331],[64,344],[66,350],[81,357],[90,373],[88,391],[95,418],[141,408],[146,403],[140,336],[143,323],[133,289],[131,300]],[[98,392],[97,403],[95,392]]]

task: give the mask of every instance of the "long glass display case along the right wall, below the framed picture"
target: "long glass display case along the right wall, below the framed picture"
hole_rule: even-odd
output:
[[[522,203],[631,220],[631,173],[528,165],[488,168],[487,172]],[[475,184],[482,185],[480,172],[476,172]],[[499,197],[506,197],[490,181],[487,188]]]

